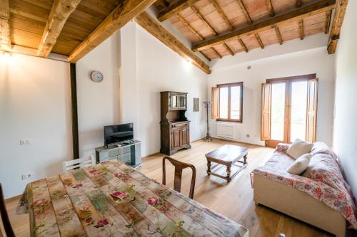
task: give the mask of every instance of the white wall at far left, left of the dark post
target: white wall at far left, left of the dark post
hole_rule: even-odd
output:
[[[69,63],[0,55],[0,182],[5,197],[58,174],[71,157]],[[29,139],[29,144],[19,144]],[[21,180],[21,174],[31,174]]]

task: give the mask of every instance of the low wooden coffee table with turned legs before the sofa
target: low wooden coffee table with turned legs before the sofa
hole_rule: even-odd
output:
[[[248,148],[246,147],[239,147],[231,144],[226,144],[223,147],[219,147],[212,152],[209,152],[206,154],[207,158],[207,174],[214,175],[216,177],[220,177],[222,179],[226,179],[226,181],[230,182],[233,177],[236,176],[239,172],[241,172],[242,169],[244,169],[247,166],[247,154],[248,154]],[[240,160],[243,159],[243,160]],[[217,163],[211,167],[211,162]],[[231,175],[231,167],[232,164],[235,163],[241,163],[243,164],[239,169]],[[227,175],[224,177],[221,174],[216,174],[211,172],[211,169],[217,167],[219,164],[222,164],[227,167]]]

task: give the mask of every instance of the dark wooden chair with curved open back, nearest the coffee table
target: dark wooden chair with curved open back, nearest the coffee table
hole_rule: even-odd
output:
[[[192,169],[192,179],[191,179],[191,187],[189,198],[193,199],[193,192],[195,191],[195,182],[196,182],[196,168],[192,164],[187,164],[183,162],[179,162],[176,159],[172,159],[171,157],[164,157],[162,159],[162,184],[166,185],[166,169],[165,169],[165,160],[169,160],[171,164],[175,167],[175,177],[174,177],[174,190],[180,192],[181,191],[181,180],[182,180],[182,169],[191,168]]]

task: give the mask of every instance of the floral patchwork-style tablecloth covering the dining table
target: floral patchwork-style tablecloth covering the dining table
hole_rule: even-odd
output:
[[[31,236],[242,236],[248,230],[111,160],[28,184]]]

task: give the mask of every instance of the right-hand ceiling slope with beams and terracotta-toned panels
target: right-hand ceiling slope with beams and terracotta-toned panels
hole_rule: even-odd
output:
[[[214,59],[328,33],[335,3],[335,0],[160,0],[154,6],[160,21],[169,19],[193,43],[194,51]]]

